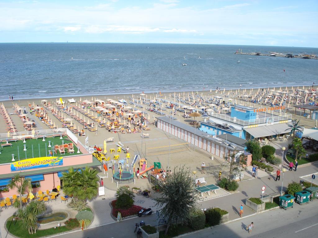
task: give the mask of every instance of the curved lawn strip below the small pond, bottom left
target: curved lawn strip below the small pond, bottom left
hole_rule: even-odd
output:
[[[61,232],[66,232],[71,230],[70,228],[67,228],[66,226],[61,226],[60,228],[49,228],[49,229],[45,229],[45,230],[37,230],[37,233],[31,235],[29,234],[29,232],[27,230],[24,230],[21,228],[20,222],[19,221],[12,221],[12,217],[10,217],[7,220],[6,223],[6,227],[8,229],[8,231],[17,237],[21,237],[21,238],[29,238],[29,237],[43,237],[43,236],[48,236],[48,235],[54,235],[54,234],[58,234]]]

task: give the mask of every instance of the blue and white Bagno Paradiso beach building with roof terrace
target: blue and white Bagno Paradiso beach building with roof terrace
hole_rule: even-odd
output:
[[[292,115],[283,112],[283,107],[252,108],[233,105],[230,111],[213,111],[201,121],[200,130],[211,135],[230,134],[245,140],[267,138],[289,134],[288,125]]]

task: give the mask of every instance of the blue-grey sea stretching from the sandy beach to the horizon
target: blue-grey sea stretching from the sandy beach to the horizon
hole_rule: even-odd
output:
[[[236,55],[317,48],[128,43],[0,43],[0,100],[312,85],[318,60]],[[186,65],[183,65],[186,64]],[[284,71],[285,69],[285,71]]]

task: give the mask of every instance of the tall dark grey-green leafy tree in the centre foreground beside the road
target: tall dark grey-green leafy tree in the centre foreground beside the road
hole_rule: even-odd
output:
[[[155,198],[156,206],[162,208],[161,213],[167,219],[167,234],[171,225],[187,221],[196,207],[198,193],[190,170],[184,167],[176,167],[165,181],[157,180],[156,185],[162,192],[161,197]]]

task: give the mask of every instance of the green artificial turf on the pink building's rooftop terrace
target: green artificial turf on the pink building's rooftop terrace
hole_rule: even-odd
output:
[[[54,150],[54,145],[62,145],[62,141],[64,141],[64,144],[66,143],[73,143],[72,141],[69,140],[67,136],[64,136],[63,139],[60,139],[59,136],[56,137],[47,137],[45,138],[45,141],[42,141],[43,138],[38,138],[38,139],[26,139],[25,143],[23,143],[23,140],[18,140],[17,142],[10,142],[12,144],[12,147],[10,146],[5,146],[3,148],[0,148],[0,163],[11,163],[12,161],[12,154],[14,154],[14,159],[16,161],[19,160],[25,160],[30,159],[30,158],[37,158],[37,157],[44,157],[49,155],[49,150]],[[49,141],[51,141],[51,146],[49,146]],[[25,151],[24,149],[24,144],[26,145],[26,156],[25,156]],[[32,156],[32,145],[33,145],[33,156]],[[39,150],[39,145],[40,145],[40,150]],[[77,147],[73,143],[74,147],[74,154],[70,154],[68,152],[65,152],[65,155],[60,155],[54,154],[53,156],[68,156],[68,155],[80,155],[82,153],[76,153],[77,152]],[[19,153],[18,153],[19,150]]]

